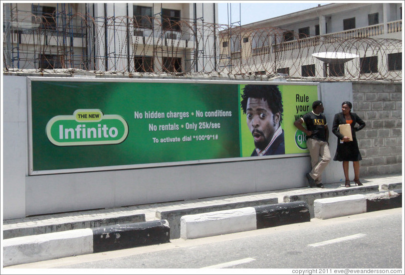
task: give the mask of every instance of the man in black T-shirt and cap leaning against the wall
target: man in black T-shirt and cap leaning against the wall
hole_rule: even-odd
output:
[[[308,179],[309,187],[316,185],[319,188],[324,188],[322,184],[322,172],[331,160],[328,142],[329,131],[326,118],[322,114],[323,111],[322,101],[314,101],[312,111],[294,122],[295,127],[304,132],[308,137],[307,147],[311,155],[312,170],[306,173],[305,176]],[[303,123],[307,125],[307,129],[302,126]]]

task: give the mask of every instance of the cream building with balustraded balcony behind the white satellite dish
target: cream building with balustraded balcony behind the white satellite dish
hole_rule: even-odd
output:
[[[401,77],[402,3],[399,2],[318,5],[229,28],[221,31],[219,37],[219,67],[230,74]],[[313,56],[324,52],[335,53],[338,60],[325,63]],[[339,55],[348,54],[356,58],[339,62]]]

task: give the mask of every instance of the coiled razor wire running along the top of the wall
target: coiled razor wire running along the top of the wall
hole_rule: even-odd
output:
[[[3,72],[217,73],[330,80],[402,80],[402,40],[383,24],[317,36],[151,16],[29,12],[3,24]],[[387,32],[401,32],[400,21]],[[316,53],[350,53],[325,63]]]

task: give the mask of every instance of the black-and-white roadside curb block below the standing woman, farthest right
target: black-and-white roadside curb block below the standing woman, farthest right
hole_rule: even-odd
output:
[[[317,219],[330,219],[402,207],[402,189],[314,200]]]

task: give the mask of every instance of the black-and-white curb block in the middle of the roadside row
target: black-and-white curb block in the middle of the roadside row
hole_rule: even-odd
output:
[[[278,203],[185,215],[181,218],[180,236],[195,239],[309,221],[305,202]]]

